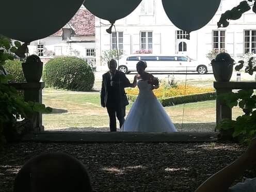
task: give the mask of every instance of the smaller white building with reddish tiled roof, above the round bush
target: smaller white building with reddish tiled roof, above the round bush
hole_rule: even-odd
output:
[[[45,63],[59,56],[76,56],[95,65],[95,16],[83,5],[74,17],[55,34],[31,42],[29,54],[37,54]]]

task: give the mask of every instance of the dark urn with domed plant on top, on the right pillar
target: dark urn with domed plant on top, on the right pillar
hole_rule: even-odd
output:
[[[211,62],[217,82],[229,82],[233,73],[234,60],[228,53],[219,53]]]

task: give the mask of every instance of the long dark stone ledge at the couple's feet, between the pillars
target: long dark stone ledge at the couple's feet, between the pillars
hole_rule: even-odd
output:
[[[41,132],[29,133],[22,141],[35,142],[210,142],[216,132]]]

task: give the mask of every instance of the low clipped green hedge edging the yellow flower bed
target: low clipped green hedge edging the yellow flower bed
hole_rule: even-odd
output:
[[[129,101],[134,102],[137,98],[135,95],[127,95],[127,98]],[[178,97],[171,97],[171,98],[165,98],[165,99],[159,99],[159,102],[164,106],[173,106],[178,104],[185,103],[193,103],[198,101],[209,101],[209,100],[215,100],[216,99],[216,93],[215,92],[207,92],[207,93],[199,93],[199,94],[188,94]]]

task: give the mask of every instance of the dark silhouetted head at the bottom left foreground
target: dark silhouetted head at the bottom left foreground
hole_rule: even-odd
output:
[[[43,153],[29,159],[14,181],[13,192],[92,191],[89,174],[66,153]]]

